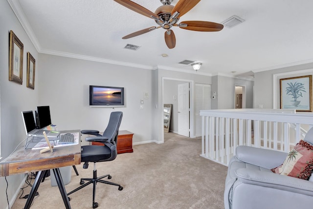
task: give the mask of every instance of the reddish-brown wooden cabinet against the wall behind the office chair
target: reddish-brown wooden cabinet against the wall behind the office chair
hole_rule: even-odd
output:
[[[133,152],[133,133],[123,130],[117,136],[117,154]],[[100,142],[92,142],[92,145],[103,145]]]

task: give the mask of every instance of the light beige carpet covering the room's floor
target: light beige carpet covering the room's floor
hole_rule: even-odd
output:
[[[134,146],[134,153],[119,154],[112,162],[97,163],[98,176],[112,175],[117,186],[98,183],[96,202],[99,209],[223,209],[224,180],[227,167],[200,157],[201,138],[190,139],[173,133],[165,134],[164,144]],[[88,169],[76,165],[67,192],[80,186],[80,178],[91,178]],[[57,186],[50,177],[39,186],[32,209],[65,208]],[[107,180],[107,179],[105,179]],[[24,196],[30,187],[24,189]],[[92,185],[71,195],[72,209],[92,208]],[[17,199],[12,209],[22,209],[26,199]]]

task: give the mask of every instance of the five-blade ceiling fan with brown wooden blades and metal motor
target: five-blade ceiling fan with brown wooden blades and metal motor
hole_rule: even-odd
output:
[[[157,28],[164,28],[165,34],[165,43],[167,47],[174,48],[176,46],[176,38],[174,31],[171,29],[173,26],[178,26],[186,30],[195,30],[195,31],[220,31],[223,29],[224,25],[219,23],[212,23],[206,21],[183,21],[178,23],[179,18],[191,10],[200,0],[179,0],[179,2],[173,6],[171,5],[173,0],[160,0],[162,6],[156,9],[156,12],[151,12],[143,6],[131,1],[131,0],[114,0],[117,3],[141,14],[152,18],[156,21],[158,26],[148,27],[134,33],[131,33],[127,36],[124,36],[122,39],[129,39],[135,36],[153,31]]]

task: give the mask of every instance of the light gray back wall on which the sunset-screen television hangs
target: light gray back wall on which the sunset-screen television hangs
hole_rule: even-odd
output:
[[[134,144],[152,138],[152,70],[40,54],[40,105],[49,105],[59,130],[107,126],[112,111],[122,111],[120,130],[134,133]],[[125,88],[124,107],[89,107],[89,85]],[[149,98],[144,99],[144,92]],[[144,99],[143,109],[140,100]]]

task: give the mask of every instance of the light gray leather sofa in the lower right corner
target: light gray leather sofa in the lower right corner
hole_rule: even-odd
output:
[[[313,145],[313,128],[305,141]],[[313,175],[309,181],[273,173],[288,153],[239,146],[228,164],[225,209],[312,209]]]

